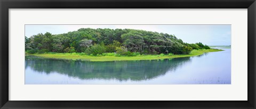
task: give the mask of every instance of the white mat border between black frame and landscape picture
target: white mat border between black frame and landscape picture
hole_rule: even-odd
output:
[[[25,24],[231,24],[231,85],[25,85]],[[9,100],[247,101],[247,9],[10,9]]]

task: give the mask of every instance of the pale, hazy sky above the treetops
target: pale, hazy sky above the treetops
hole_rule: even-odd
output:
[[[174,34],[187,43],[202,42],[209,46],[231,45],[231,25],[25,25],[25,36],[77,31],[81,28],[136,29]]]

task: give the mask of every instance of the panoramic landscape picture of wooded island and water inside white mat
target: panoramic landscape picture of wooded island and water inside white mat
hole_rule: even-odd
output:
[[[25,84],[231,84],[231,25],[25,25]]]

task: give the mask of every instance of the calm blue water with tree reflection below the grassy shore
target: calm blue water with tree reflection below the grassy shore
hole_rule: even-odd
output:
[[[25,84],[230,84],[231,49],[151,61],[26,58]],[[99,57],[100,58],[100,57]]]

